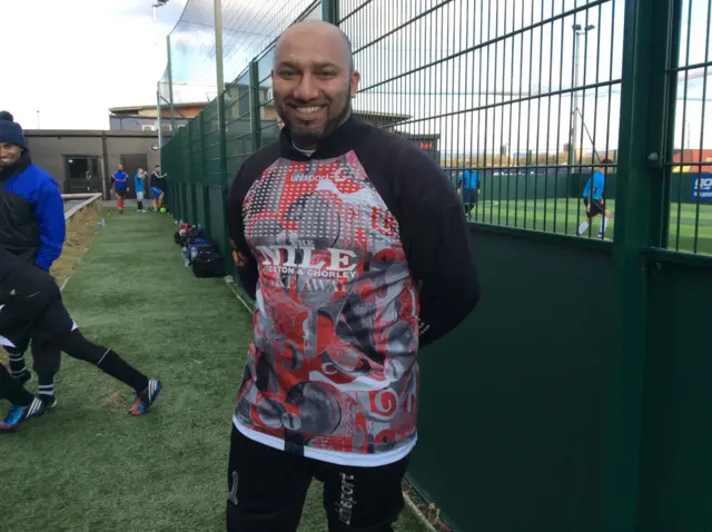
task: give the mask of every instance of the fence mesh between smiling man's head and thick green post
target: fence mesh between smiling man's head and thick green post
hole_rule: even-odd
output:
[[[454,184],[476,173],[473,220],[575,230],[593,164],[615,159],[616,2],[344,4],[358,108],[432,149]]]

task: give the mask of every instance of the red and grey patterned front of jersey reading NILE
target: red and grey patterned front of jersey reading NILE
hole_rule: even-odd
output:
[[[417,283],[356,154],[280,157],[241,210],[258,284],[237,421],[315,450],[370,454],[411,442]]]

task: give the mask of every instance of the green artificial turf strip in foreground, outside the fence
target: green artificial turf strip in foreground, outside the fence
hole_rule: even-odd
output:
[[[65,357],[59,406],[0,437],[0,530],[225,530],[250,316],[221,279],[181,266],[174,230],[166,215],[112,213],[65,290],[87,336],[161,378],[155,410],[128,416],[123,385]],[[101,404],[117,392],[119,404]],[[300,531],[326,531],[318,487]],[[396,530],[424,529],[406,512]]]

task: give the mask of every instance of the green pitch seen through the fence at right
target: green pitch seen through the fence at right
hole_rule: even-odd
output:
[[[615,200],[606,201],[613,218],[609,223],[607,238],[613,238]],[[575,198],[537,200],[481,201],[472,210],[472,221],[545,230],[573,235],[585,218],[582,201]],[[601,218],[592,226],[596,238]],[[696,229],[695,229],[696,227]],[[712,205],[672,204],[670,210],[669,248],[681,252],[712,254]]]

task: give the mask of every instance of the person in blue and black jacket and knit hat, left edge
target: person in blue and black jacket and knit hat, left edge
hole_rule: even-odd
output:
[[[0,245],[49,272],[62,253],[65,236],[65,203],[57,183],[32,162],[22,128],[12,115],[0,111]],[[31,378],[24,363],[27,347],[6,348],[10,375],[21,382]],[[52,394],[49,383],[53,376],[39,376],[40,391]]]

